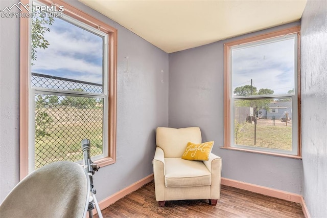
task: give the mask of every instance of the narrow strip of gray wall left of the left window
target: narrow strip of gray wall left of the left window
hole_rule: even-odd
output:
[[[0,1],[0,10],[14,1]],[[17,9],[18,10],[18,9]],[[0,18],[0,202],[19,181],[19,21]]]

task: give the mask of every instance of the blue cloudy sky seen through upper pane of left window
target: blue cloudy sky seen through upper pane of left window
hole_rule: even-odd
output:
[[[32,72],[102,84],[102,37],[59,18],[49,28]]]

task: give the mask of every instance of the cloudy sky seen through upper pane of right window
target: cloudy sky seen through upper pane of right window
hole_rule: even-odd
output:
[[[232,50],[232,90],[243,85],[287,94],[294,88],[294,39]]]

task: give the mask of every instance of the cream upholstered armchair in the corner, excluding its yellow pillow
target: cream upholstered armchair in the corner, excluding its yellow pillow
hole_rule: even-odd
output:
[[[155,198],[160,207],[166,201],[208,199],[213,206],[220,199],[221,158],[210,154],[208,161],[181,158],[188,142],[202,142],[199,127],[158,127],[153,164]]]

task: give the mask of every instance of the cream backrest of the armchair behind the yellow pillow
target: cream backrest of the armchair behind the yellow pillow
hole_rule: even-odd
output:
[[[164,150],[165,158],[180,158],[188,142],[200,144],[202,142],[199,127],[169,128],[158,127],[156,144]]]

